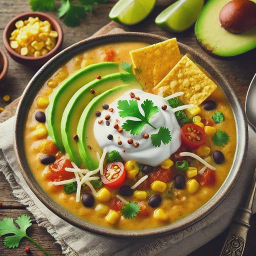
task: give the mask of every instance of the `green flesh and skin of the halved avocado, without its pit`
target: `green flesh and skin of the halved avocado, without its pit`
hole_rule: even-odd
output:
[[[219,12],[229,1],[207,1],[195,23],[195,35],[201,46],[211,54],[223,57],[235,56],[256,47],[256,25],[240,34],[230,33],[221,27]]]

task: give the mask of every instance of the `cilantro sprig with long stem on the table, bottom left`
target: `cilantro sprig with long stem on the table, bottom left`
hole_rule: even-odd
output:
[[[25,237],[36,245],[46,256],[50,256],[49,252],[26,234],[26,229],[32,225],[31,218],[28,215],[23,214],[18,216],[15,222],[18,224],[19,228],[14,224],[13,218],[5,217],[0,221],[0,235],[12,234],[4,237],[3,244],[5,247],[18,247],[20,240]]]

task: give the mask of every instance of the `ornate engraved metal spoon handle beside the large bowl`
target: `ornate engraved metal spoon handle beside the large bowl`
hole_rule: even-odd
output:
[[[250,190],[247,196],[247,200],[242,208],[237,211],[236,217],[234,218],[228,235],[226,237],[224,246],[220,252],[220,256],[242,256],[247,233],[250,227],[249,220],[252,214],[252,202],[256,189],[256,169]]]

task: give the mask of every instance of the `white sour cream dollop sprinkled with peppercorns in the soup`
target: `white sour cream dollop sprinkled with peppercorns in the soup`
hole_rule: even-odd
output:
[[[136,97],[139,97],[138,108],[142,115],[144,115],[144,112],[141,108],[141,104],[145,99],[152,100],[153,104],[158,107],[158,112],[149,119],[149,122],[156,127],[156,129],[152,128],[148,124],[145,124],[139,135],[131,135],[129,131],[123,130],[121,133],[119,133],[115,128],[113,128],[116,120],[119,120],[119,127],[121,127],[121,125],[127,119],[139,120],[138,118],[131,116],[120,117],[118,113],[118,101],[125,99],[130,100],[130,92],[133,92]],[[133,98],[133,100],[136,99]],[[161,108],[161,106],[164,104],[167,105],[165,110]],[[113,112],[110,112],[109,108],[113,108]],[[117,150],[124,160],[135,160],[143,164],[157,166],[180,147],[180,127],[172,108],[169,106],[167,100],[162,96],[147,93],[139,89],[134,89],[125,92],[122,96],[115,99],[109,104],[109,108],[102,109],[101,115],[96,118],[93,126],[94,137],[102,150],[104,148],[106,148],[108,152]],[[105,124],[106,120],[104,119],[104,116],[107,114],[111,116],[108,120],[110,122],[109,126]],[[103,120],[103,122],[99,124],[99,120]],[[151,134],[157,133],[160,126],[167,127],[170,130],[171,141],[167,144],[163,144],[161,142],[160,146],[156,147],[152,145],[150,136]],[[147,139],[143,137],[145,133],[149,134]],[[113,139],[109,140],[107,138],[109,134],[113,136]],[[133,139],[132,144],[127,142],[129,138]],[[121,145],[118,145],[118,141],[121,141]],[[138,147],[134,147],[135,142],[139,143]],[[123,149],[125,152],[123,152]]]

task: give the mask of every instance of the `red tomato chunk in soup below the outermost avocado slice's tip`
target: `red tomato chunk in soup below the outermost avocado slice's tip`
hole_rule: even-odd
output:
[[[73,178],[74,173],[66,171],[66,167],[73,167],[71,161],[63,157],[59,158],[54,163],[48,165],[47,169],[44,171],[44,175],[50,181],[60,181]]]

